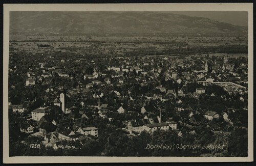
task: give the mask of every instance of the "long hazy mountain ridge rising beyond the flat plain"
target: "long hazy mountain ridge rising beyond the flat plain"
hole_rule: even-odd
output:
[[[247,29],[168,12],[10,12],[10,33],[245,34]]]

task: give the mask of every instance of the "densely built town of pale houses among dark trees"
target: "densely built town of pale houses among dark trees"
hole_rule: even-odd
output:
[[[121,55],[111,50],[114,42],[105,56],[94,56],[103,51],[98,43],[88,54],[74,46],[55,48],[54,42],[30,49],[29,43],[10,42],[10,155],[247,155],[246,149],[237,150],[247,144],[247,54],[129,56],[125,49]],[[228,149],[145,149],[158,140],[166,145],[226,142]],[[31,144],[39,146],[29,149]]]

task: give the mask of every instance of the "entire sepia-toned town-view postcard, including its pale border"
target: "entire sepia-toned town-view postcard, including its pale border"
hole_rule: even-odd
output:
[[[8,161],[252,157],[252,14],[209,6],[8,8]]]

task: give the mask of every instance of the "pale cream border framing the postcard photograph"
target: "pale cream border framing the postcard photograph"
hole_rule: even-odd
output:
[[[247,11],[248,12],[248,157],[9,157],[8,64],[10,11]],[[253,161],[253,4],[4,4],[3,162],[240,162]]]

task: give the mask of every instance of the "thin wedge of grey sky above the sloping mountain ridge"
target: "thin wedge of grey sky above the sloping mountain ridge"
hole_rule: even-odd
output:
[[[233,25],[247,26],[248,13],[246,11],[190,11],[170,12],[187,16],[205,17],[219,22],[231,23]]]

